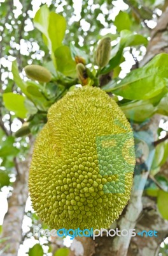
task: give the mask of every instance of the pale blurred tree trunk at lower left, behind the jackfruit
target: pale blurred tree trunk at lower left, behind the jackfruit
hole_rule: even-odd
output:
[[[33,141],[31,141],[31,148],[27,159],[17,164],[18,175],[13,186],[13,193],[8,201],[8,212],[4,217],[3,233],[1,234],[2,238],[8,237],[6,241],[0,243],[0,250],[4,251],[3,256],[17,256],[18,248],[22,241],[22,221],[28,196],[27,180],[32,144]]]

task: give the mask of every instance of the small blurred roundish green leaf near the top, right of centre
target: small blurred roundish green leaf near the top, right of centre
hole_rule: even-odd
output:
[[[129,14],[127,12],[120,11],[115,18],[114,25],[118,31],[122,31],[123,29],[130,29],[131,20],[129,18]]]

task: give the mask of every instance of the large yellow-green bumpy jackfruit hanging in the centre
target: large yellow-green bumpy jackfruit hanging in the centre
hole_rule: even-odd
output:
[[[34,145],[32,206],[50,228],[108,228],[127,205],[134,164],[132,129],[116,102],[90,86],[68,92]]]

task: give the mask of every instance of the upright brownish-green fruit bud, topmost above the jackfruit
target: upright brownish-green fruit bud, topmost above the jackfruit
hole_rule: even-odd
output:
[[[100,68],[106,66],[109,62],[111,52],[111,38],[105,37],[97,46],[95,52],[95,61]]]

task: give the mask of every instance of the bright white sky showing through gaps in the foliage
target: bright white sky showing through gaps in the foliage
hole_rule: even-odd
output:
[[[0,0],[0,3],[3,3],[3,2],[4,2],[4,0]],[[73,7],[74,7],[75,15],[73,17],[71,17],[69,22],[73,22],[74,20],[81,19],[81,16],[80,16],[81,2],[82,2],[82,0],[73,0],[73,3],[74,3]],[[94,10],[94,8],[97,7],[96,4],[93,4],[93,0],[88,0],[88,2],[90,4],[92,4],[91,8],[93,8],[93,10]],[[22,14],[22,4],[20,4],[19,0],[13,0],[13,3],[17,7],[17,9],[14,11],[15,17],[17,18],[18,15]],[[46,3],[46,4],[48,4],[48,6],[50,6],[50,4],[52,3],[52,0],[38,0],[38,1],[32,0],[33,8],[32,8],[32,11],[29,11],[30,18],[34,17],[34,15],[38,11],[41,3],[43,3],[43,4]],[[112,20],[115,20],[115,17],[116,17],[116,15],[118,15],[118,12],[120,12],[120,10],[122,10],[122,11],[127,10],[128,6],[127,6],[127,4],[123,3],[122,0],[118,0],[113,3],[115,3],[115,7],[113,8],[113,10],[111,10],[110,17]],[[62,12],[62,8],[64,8],[65,4],[66,4],[66,2],[62,1],[62,3],[59,4],[59,6],[56,8],[55,12],[57,12],[57,13]],[[103,5],[101,6],[101,8],[102,8],[102,11],[104,13],[106,13],[106,8]],[[161,13],[158,13],[158,14],[161,14]],[[104,19],[103,15],[99,15],[99,19],[102,21]],[[88,22],[86,22],[84,19],[81,20],[81,26],[83,28],[83,31],[88,31],[88,29],[90,28],[90,24]],[[154,28],[156,26],[156,22],[150,20],[148,22],[148,26],[150,26],[150,28]],[[25,26],[25,31],[28,32],[28,31],[31,31],[32,29],[33,29],[33,26],[32,26],[31,19],[28,19],[27,24]],[[113,24],[111,25],[110,29],[102,29],[102,31],[101,31],[101,35],[106,35],[108,33],[113,33],[113,34],[116,33],[116,28],[115,28],[115,26],[113,26]],[[0,38],[0,42],[1,42],[1,38]],[[13,44],[15,44],[15,40],[14,40]],[[29,44],[29,42],[28,42],[28,44]],[[82,37],[80,38],[80,44],[82,44]],[[35,42],[33,43],[33,47],[34,47],[34,49],[39,50],[39,45],[36,44]],[[24,40],[21,40],[20,45],[17,45],[17,48],[20,49],[21,54],[23,54],[23,55],[29,54],[28,45],[27,45],[27,43],[24,42]],[[143,47],[141,50],[145,51],[145,47]],[[138,52],[134,52],[134,54],[137,57],[137,60],[140,61],[141,57],[136,55],[136,54],[138,54]],[[41,52],[41,55],[39,54],[39,56],[34,56],[34,58],[37,58],[38,60],[40,60],[42,57],[43,57],[43,52]],[[130,72],[130,68],[132,67],[132,65],[135,64],[135,61],[133,60],[132,55],[129,52],[125,52],[124,57],[125,57],[126,61],[124,63],[122,63],[122,65],[121,65],[121,67],[122,67],[122,72],[120,73],[121,78],[124,77],[125,74]],[[4,67],[8,67],[9,70],[11,71],[11,61],[13,61],[14,59],[15,58],[13,58],[12,56],[8,56],[8,60],[6,60],[5,58],[2,58],[1,64]],[[31,64],[31,63],[29,63],[29,64]],[[6,74],[6,72],[4,72],[4,73],[5,74],[3,74],[3,77],[2,77],[3,80],[9,76],[9,74]],[[10,78],[12,79],[11,72],[10,72]],[[20,125],[21,124],[14,125],[13,132],[17,131],[17,129],[19,128]],[[167,125],[167,127],[166,127],[166,125]],[[168,124],[164,125],[164,122],[161,122],[160,127],[163,127],[163,126],[164,126],[164,129],[166,129],[168,131]],[[162,137],[164,137],[164,136],[165,136],[165,133],[163,132]],[[9,193],[9,189],[6,187],[4,187],[2,190],[3,191],[0,192],[0,202],[1,202],[0,225],[2,225],[4,214],[8,209],[8,203],[7,203],[6,197]],[[28,210],[29,211],[31,210],[30,199],[27,200],[27,205],[26,205],[26,211],[28,211]],[[24,222],[22,225],[24,232],[29,232],[30,225],[31,225],[31,218],[25,216]],[[41,239],[40,243],[43,244],[44,242],[45,242],[45,240]],[[35,241],[35,239],[33,237],[24,241],[24,244],[20,246],[18,256],[27,256],[26,252],[28,252],[29,248],[34,246],[34,244],[36,244],[36,243],[38,243],[38,242]],[[69,237],[67,237],[65,239],[65,244],[66,244],[66,246],[70,246],[71,241],[70,241]],[[43,246],[43,249],[45,250],[45,252],[47,252],[48,248],[46,246]],[[49,255],[52,255],[52,254],[48,253],[48,256]]]

